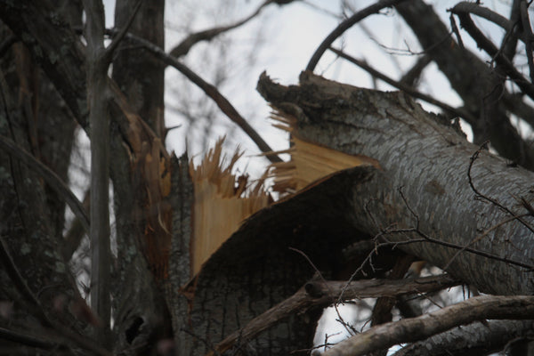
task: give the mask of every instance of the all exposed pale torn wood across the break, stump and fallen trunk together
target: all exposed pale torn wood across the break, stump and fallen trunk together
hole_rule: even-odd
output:
[[[299,190],[322,178],[354,166],[375,166],[373,158],[349,155],[331,150],[313,142],[303,141],[295,131],[295,117],[279,111],[273,112],[275,126],[291,134],[287,162],[269,166],[263,178],[248,183],[247,175],[232,174],[232,168],[241,157],[236,150],[227,163],[222,153],[223,139],[209,150],[199,166],[190,163],[190,176],[194,185],[193,242],[191,244],[192,274],[197,275],[211,255],[239,229],[250,215],[273,203],[265,188],[265,179],[272,178],[272,189],[280,197],[298,194]],[[191,276],[191,277],[193,277]]]

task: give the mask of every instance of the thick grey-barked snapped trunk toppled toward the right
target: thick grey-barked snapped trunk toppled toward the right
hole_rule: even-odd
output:
[[[467,170],[478,148],[442,117],[425,112],[404,93],[360,89],[309,72],[301,74],[299,86],[277,85],[263,74],[258,91],[283,115],[295,117],[293,134],[299,139],[375,158],[384,169],[375,170],[374,179],[365,184],[346,186],[355,227],[401,242],[404,251],[435,265],[449,265],[447,271],[482,292],[534,293],[529,269],[465,251],[449,263],[458,248],[428,241],[469,246],[530,265],[534,260],[529,228],[499,206],[476,198]],[[529,213],[521,199],[534,199],[533,173],[508,167],[504,159],[482,151],[471,177],[477,190],[514,214]],[[523,220],[532,223],[533,218]]]

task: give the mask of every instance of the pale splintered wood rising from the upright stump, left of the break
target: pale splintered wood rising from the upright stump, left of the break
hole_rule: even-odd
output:
[[[238,149],[226,163],[222,155],[223,140],[208,151],[199,166],[190,162],[195,190],[191,248],[193,275],[248,216],[270,203],[270,196],[263,189],[263,180],[249,187],[247,175],[231,174],[242,152]]]

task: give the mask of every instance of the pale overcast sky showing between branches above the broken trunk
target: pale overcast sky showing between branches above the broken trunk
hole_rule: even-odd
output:
[[[105,1],[108,27],[112,27],[113,24],[114,3],[114,0]],[[372,3],[374,1],[369,0],[351,2],[356,9]],[[449,13],[446,10],[457,4],[457,1],[441,0],[430,3],[449,26]],[[180,43],[188,31],[229,24],[253,12],[258,4],[260,4],[258,0],[224,2],[167,0],[166,51],[170,51],[175,44]],[[485,5],[505,16],[508,15],[505,1],[487,1]],[[263,70],[266,70],[271,77],[282,84],[296,84],[299,73],[305,68],[312,53],[339,23],[340,19],[336,14],[340,13],[340,8],[339,0],[295,1],[285,6],[271,4],[257,19],[232,30],[222,36],[221,40],[197,44],[182,61],[208,82],[213,83],[214,78],[225,72],[226,78],[219,87],[223,95],[272,148],[284,150],[288,144],[287,134],[271,127],[267,119],[270,109],[255,92],[257,78]],[[483,22],[483,20],[477,21]],[[402,72],[417,61],[416,55],[407,55],[402,51],[401,54],[388,54],[388,49],[409,49],[413,52],[419,50],[417,40],[404,26],[401,17],[392,10],[368,17],[361,24],[363,26],[347,31],[341,40],[336,41],[336,46],[343,45],[346,53],[367,60],[370,65],[394,78],[401,77]],[[486,24],[484,28],[487,28],[486,33],[490,33],[500,41],[502,36],[500,29]],[[474,48],[473,51],[478,53],[468,36],[465,35],[463,39],[467,46]],[[224,68],[226,69],[223,70]],[[315,72],[340,82],[373,87],[373,82],[367,73],[351,63],[336,59],[331,53],[323,56]],[[377,87],[381,90],[392,90],[389,85],[381,82],[378,82]],[[449,83],[432,64],[425,69],[425,80],[420,89],[425,93],[436,95],[441,101],[447,101],[451,105],[461,104],[457,95],[450,90]],[[182,125],[168,134],[167,148],[180,155],[187,145],[190,156],[199,157],[205,150],[206,142],[213,144],[219,136],[227,134],[228,150],[232,150],[238,144],[246,150],[247,158],[241,160],[240,170],[244,170],[247,166],[247,170],[253,176],[260,175],[268,161],[265,158],[252,157],[259,153],[254,142],[242,134],[236,125],[214,107],[213,103],[207,101],[202,103],[200,108],[191,109],[195,118],[198,116],[192,125],[177,112],[176,108],[182,108],[183,101],[190,102],[189,106],[193,106],[195,98],[203,99],[205,95],[175,69],[166,69],[166,125]],[[426,108],[433,109],[430,106]],[[206,124],[203,120],[206,113],[216,116],[210,124]],[[204,137],[206,133],[209,133],[206,141],[198,140],[198,137]]]

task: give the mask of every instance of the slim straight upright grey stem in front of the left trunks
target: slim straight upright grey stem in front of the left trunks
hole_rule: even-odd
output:
[[[110,265],[109,247],[109,86],[104,47],[104,7],[101,0],[84,0],[87,102],[91,129],[91,306],[103,322],[97,330],[104,347],[110,346],[109,322]]]

